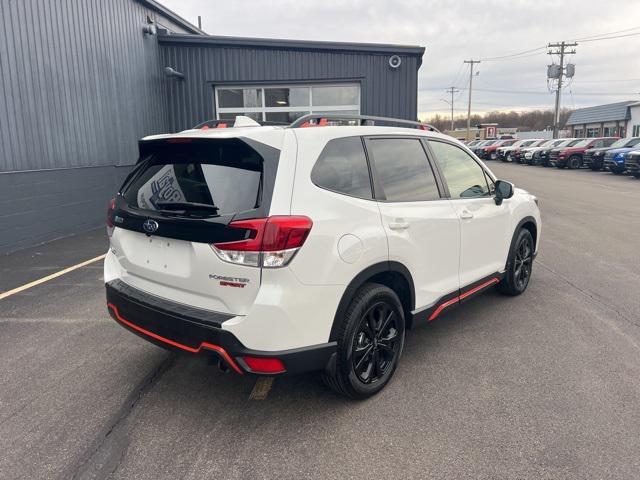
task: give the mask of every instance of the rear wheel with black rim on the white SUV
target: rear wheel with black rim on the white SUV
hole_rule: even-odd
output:
[[[391,380],[404,347],[404,310],[398,295],[377,283],[355,294],[337,334],[335,365],[322,374],[337,393],[365,399]]]

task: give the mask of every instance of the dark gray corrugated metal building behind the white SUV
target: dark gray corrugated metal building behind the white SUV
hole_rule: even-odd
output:
[[[145,135],[237,114],[415,119],[423,53],[207,36],[154,0],[2,0],[0,254],[101,225]]]

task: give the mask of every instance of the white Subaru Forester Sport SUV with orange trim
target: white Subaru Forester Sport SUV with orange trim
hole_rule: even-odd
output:
[[[318,371],[365,398],[409,328],[493,286],[522,293],[537,199],[451,137],[378,120],[238,117],[141,140],[108,211],[111,316],[238,374]]]

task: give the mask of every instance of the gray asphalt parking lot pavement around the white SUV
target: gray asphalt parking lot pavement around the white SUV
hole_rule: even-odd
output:
[[[489,166],[540,198],[527,292],[410,332],[365,402],[255,379],[116,325],[95,262],[0,300],[0,478],[639,478],[640,181]],[[0,257],[0,291],[106,250]]]

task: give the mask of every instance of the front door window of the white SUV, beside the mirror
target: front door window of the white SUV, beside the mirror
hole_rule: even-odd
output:
[[[444,142],[429,142],[451,198],[473,198],[490,195],[484,170],[460,147]]]

